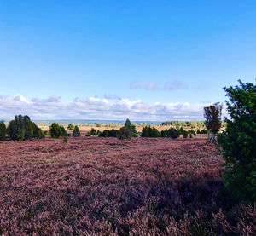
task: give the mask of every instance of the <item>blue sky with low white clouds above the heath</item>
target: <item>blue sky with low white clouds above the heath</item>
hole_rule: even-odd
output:
[[[0,0],[0,119],[200,120],[255,38],[253,0]]]

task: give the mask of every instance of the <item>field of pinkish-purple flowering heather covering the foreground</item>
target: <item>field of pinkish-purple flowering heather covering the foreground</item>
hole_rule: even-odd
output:
[[[0,142],[2,235],[255,235],[203,139]]]

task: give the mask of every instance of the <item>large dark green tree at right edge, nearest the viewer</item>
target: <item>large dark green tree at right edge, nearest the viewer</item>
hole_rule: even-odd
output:
[[[230,119],[218,135],[225,160],[224,179],[230,192],[240,199],[256,200],[256,85],[242,83],[224,88]]]

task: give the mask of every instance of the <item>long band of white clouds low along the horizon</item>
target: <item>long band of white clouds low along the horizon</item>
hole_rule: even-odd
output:
[[[61,97],[34,98],[27,101],[21,95],[14,97],[0,95],[0,119],[14,118],[16,114],[28,115],[34,119],[125,119],[159,120],[202,119],[203,106],[208,104],[189,102],[145,103],[141,100],[109,100],[96,97],[76,98],[64,101]]]

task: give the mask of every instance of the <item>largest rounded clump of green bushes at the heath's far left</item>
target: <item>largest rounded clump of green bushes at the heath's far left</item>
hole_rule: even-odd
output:
[[[24,141],[32,138],[44,138],[44,131],[39,129],[28,116],[15,116],[9,122],[9,137],[13,140]]]

